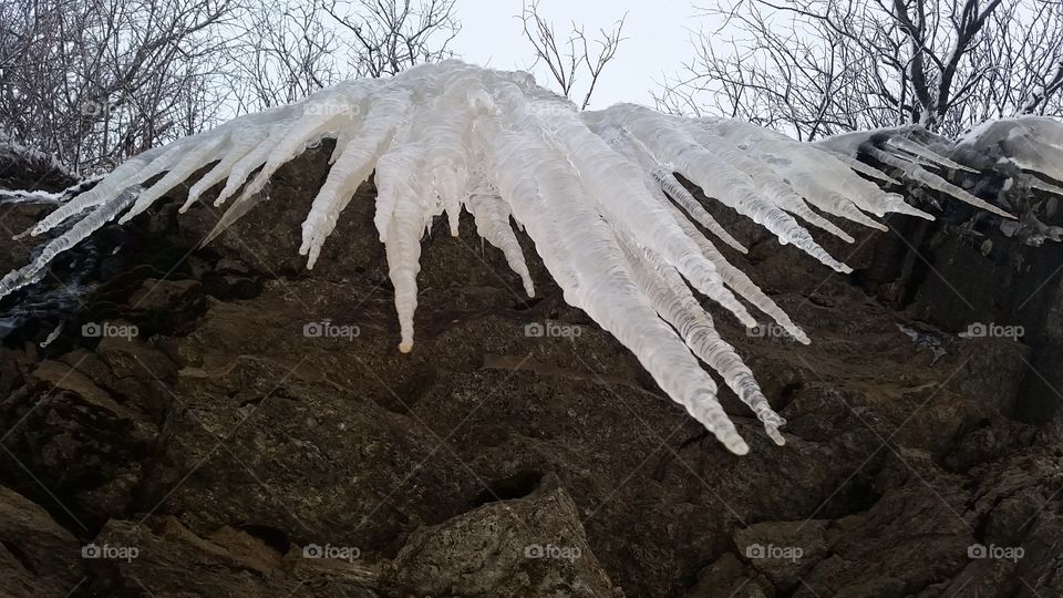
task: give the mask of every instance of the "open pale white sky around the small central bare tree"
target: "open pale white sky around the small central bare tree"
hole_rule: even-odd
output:
[[[462,31],[451,48],[460,58],[502,70],[528,69],[534,52],[520,32],[520,0],[458,0],[456,7]],[[567,39],[571,21],[582,23],[594,38],[591,33],[612,29],[628,13],[623,25],[627,39],[595,89],[592,109],[617,102],[652,106],[650,90],[691,58],[688,29],[696,30],[701,22],[690,0],[540,0],[539,12],[554,22],[561,39]],[[533,72],[539,84],[555,87],[545,71]],[[587,83],[587,78],[577,79],[574,99],[582,100]]]

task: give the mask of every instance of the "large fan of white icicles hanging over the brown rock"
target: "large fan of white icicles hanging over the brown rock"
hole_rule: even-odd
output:
[[[436,216],[445,214],[457,235],[460,210],[472,213],[478,234],[502,250],[534,293],[513,220],[535,243],[565,300],[630,349],[669,396],[737,454],[749,447],[701,362],[778,444],[785,421],[691,288],[746,327],[757,323],[749,305],[797,341],[808,338],[702,234],[746,251],[677,173],[838,272],[849,268],[817,245],[801,220],[853,241],[821,214],[879,229],[885,226],[873,216],[889,212],[932,219],[869,181],[890,177],[858,162],[853,140],[836,147],[806,144],[749,123],[684,118],[630,104],[580,113],[526,73],[448,61],[391,79],[345,82],[130,159],[28,231],[35,236],[61,225],[64,230],[32,264],[0,281],[0,297],[38,280],[56,254],[109,220],[121,215],[121,223],[128,221],[214,164],[180,208],[225,182],[213,203],[229,207],[208,241],[264,199],[260,192],[281,165],[323,138],[336,138],[336,150],[302,224],[299,251],[312,268],[355,189],[375,172],[374,221],[394,283],[401,351],[413,347],[421,239]],[[922,167],[947,158],[904,135],[890,138],[891,145],[878,144],[888,146],[875,156],[883,163],[1004,214]],[[871,134],[864,134],[860,143],[869,140]],[[153,177],[157,181],[144,186]]]

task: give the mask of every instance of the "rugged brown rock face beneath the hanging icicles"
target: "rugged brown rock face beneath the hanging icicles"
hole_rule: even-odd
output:
[[[425,239],[399,353],[371,185],[312,274],[297,255],[330,150],[206,248],[218,214],[174,197],[102,254],[59,339],[8,337],[0,594],[1063,595],[1060,399],[1029,391],[1059,375],[1050,343],[956,334],[1009,310],[1059,327],[1057,249],[898,220],[832,248],[847,278],[720,210],[813,339],[718,315],[789,421],[777,447],[724,395],[736,457],[526,238],[534,299],[469,218]]]

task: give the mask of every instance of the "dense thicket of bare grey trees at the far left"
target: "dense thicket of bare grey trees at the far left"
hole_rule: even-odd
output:
[[[74,168],[200,127],[235,0],[0,0],[0,124]]]

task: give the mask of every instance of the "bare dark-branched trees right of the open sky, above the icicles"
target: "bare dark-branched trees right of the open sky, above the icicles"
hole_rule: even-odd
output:
[[[724,24],[694,37],[660,107],[801,138],[1063,113],[1057,0],[739,0],[704,12]]]

